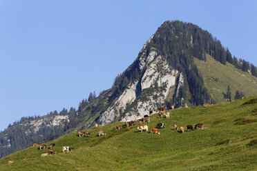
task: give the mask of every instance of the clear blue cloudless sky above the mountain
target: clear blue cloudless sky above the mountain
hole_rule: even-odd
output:
[[[0,130],[111,88],[166,20],[197,24],[257,66],[257,0],[0,0]]]

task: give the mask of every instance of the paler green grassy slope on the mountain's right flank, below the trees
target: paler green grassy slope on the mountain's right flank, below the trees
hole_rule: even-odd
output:
[[[216,98],[217,103],[225,102],[223,94],[227,93],[227,86],[231,88],[231,97],[234,99],[236,90],[245,93],[247,97],[257,94],[257,78],[238,70],[228,63],[223,65],[207,54],[207,62],[194,58],[194,62],[202,74],[204,83],[209,92]]]

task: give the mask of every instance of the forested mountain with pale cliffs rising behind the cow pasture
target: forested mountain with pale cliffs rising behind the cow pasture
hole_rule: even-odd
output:
[[[146,41],[131,66],[117,75],[112,88],[98,97],[91,94],[88,101],[79,103],[78,110],[23,118],[0,132],[0,157],[32,143],[92,128],[95,123],[134,120],[162,106],[187,108],[223,103],[236,94],[236,99],[254,96],[256,83],[257,68],[232,57],[207,30],[193,23],[166,21]],[[61,121],[53,125],[55,117]]]

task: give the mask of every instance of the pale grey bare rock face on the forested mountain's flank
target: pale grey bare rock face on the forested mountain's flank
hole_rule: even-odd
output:
[[[149,110],[156,110],[164,105],[165,99],[173,96],[174,93],[178,94],[180,86],[184,85],[182,74],[174,70],[165,57],[155,50],[151,50],[146,55],[144,48],[140,52],[141,55],[137,57],[137,66],[135,66],[143,72],[140,81],[129,83],[128,88],[115,98],[113,105],[100,114],[98,123],[101,125],[115,120],[131,121],[141,118],[149,114]]]

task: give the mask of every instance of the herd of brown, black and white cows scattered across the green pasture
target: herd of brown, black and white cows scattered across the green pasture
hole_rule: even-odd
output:
[[[170,108],[171,108],[171,110],[174,110],[174,106],[173,105],[171,105]],[[153,114],[153,110],[149,111],[149,115],[151,115],[151,114]],[[144,115],[144,117],[142,117],[140,119],[136,119],[135,121],[126,121],[126,127],[133,126],[135,124],[150,123],[149,115]],[[162,117],[169,118],[169,112],[166,112],[166,108],[165,107],[158,108],[158,118],[162,118]],[[95,128],[99,128],[99,125],[97,123],[95,123]],[[152,134],[153,133],[160,134],[160,130],[159,129],[161,129],[161,128],[162,129],[165,128],[165,123],[158,123],[155,127],[152,127],[150,129],[150,133],[152,133]],[[203,123],[197,123],[194,128],[193,128],[193,125],[187,125],[187,131],[189,131],[189,130],[193,131],[193,130],[198,130],[198,129],[203,129],[203,128],[205,128],[205,125]],[[116,129],[117,130],[121,130],[122,126],[121,125],[116,125]],[[145,130],[146,132],[149,132],[149,127],[148,127],[148,125],[142,125],[142,126],[138,126],[137,130],[139,130],[140,132],[143,132],[143,130]],[[174,130],[177,130],[180,133],[184,132],[184,128],[183,127],[180,127],[180,130],[178,130],[178,125],[177,124],[174,124]],[[78,134],[79,134],[78,135],[79,137],[82,137],[82,136],[90,137],[91,136],[90,132],[79,131]],[[97,134],[98,137],[105,136],[105,135],[106,135],[106,132],[104,130],[100,130],[99,134]],[[41,150],[41,149],[46,149],[47,145],[39,144],[39,143],[34,143],[33,147],[36,147],[39,150]],[[55,148],[55,143],[51,143],[49,145],[49,149],[51,149],[51,150],[41,154],[41,157],[46,157],[48,155],[56,154],[57,152],[55,150],[52,150],[53,148]],[[65,152],[71,152],[71,149],[68,146],[64,146],[64,147],[62,147],[62,152],[64,152],[64,153]],[[29,159],[29,158],[26,158],[26,159],[23,159],[23,160],[27,160],[27,159]],[[8,161],[9,164],[14,163],[14,162],[15,161]]]

